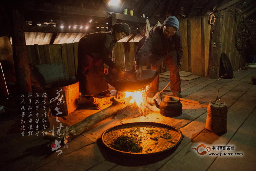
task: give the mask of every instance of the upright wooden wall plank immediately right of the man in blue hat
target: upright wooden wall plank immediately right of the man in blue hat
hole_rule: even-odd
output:
[[[183,46],[183,55],[181,58],[181,68],[180,71],[189,72],[188,66],[188,38],[187,38],[187,18],[179,20],[179,31],[181,32],[181,41]],[[167,67],[168,68],[168,67]]]

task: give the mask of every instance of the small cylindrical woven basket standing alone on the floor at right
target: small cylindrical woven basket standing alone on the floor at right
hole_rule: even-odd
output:
[[[227,133],[227,111],[228,108],[225,103],[209,103],[205,128],[215,134]]]

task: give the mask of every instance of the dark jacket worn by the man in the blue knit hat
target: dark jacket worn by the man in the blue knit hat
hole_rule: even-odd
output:
[[[177,30],[172,37],[165,38],[163,27],[158,26],[149,31],[149,37],[138,52],[138,67],[142,67],[148,54],[152,64],[156,64],[161,59],[164,60],[166,55],[177,56],[177,61],[181,61],[183,51],[180,31]]]

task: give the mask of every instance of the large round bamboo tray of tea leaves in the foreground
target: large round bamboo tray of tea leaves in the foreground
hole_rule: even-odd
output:
[[[115,140],[122,136],[136,137],[142,150],[131,152],[113,148]],[[182,137],[181,131],[170,125],[155,122],[136,122],[107,129],[101,135],[101,140],[109,152],[114,155],[147,157],[176,149],[175,147],[180,144]]]

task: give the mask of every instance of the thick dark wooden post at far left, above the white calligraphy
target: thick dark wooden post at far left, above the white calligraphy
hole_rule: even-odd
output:
[[[32,93],[29,64],[27,59],[27,49],[25,33],[23,31],[24,14],[20,10],[14,9],[13,15],[13,59],[16,72],[17,84],[21,93]]]

